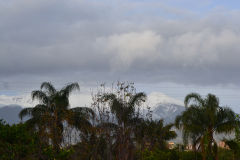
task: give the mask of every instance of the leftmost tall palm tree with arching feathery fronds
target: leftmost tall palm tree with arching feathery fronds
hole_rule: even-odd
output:
[[[26,123],[37,129],[40,136],[48,137],[58,152],[63,140],[64,122],[84,130],[91,125],[89,119],[94,113],[86,107],[70,108],[69,96],[74,90],[79,90],[78,83],[70,83],[56,90],[50,82],[43,82],[40,89],[32,91],[32,99],[40,103],[33,108],[24,108],[19,117],[31,116]],[[48,138],[45,139],[46,143],[49,142]]]

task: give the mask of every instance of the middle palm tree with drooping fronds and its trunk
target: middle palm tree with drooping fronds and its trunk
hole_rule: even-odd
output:
[[[126,93],[123,97],[115,94],[105,94],[103,98],[110,102],[110,110],[116,118],[113,123],[106,123],[106,126],[114,128],[116,159],[133,159],[133,139],[134,129],[141,122],[137,106],[144,102],[144,93]]]

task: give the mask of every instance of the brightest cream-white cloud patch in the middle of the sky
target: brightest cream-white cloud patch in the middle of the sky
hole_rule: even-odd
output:
[[[111,57],[111,66],[122,70],[131,67],[133,61],[154,59],[162,38],[153,31],[129,32],[97,38],[97,47]]]

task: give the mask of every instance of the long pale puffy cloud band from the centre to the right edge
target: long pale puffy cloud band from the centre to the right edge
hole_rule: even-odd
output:
[[[240,33],[223,29],[219,32],[203,28],[172,36],[161,31],[127,32],[100,37],[98,50],[109,56],[111,66],[118,70],[131,68],[142,60],[147,66],[154,63],[178,67],[239,66]]]

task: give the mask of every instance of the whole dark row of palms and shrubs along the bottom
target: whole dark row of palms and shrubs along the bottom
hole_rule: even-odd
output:
[[[153,119],[144,107],[147,96],[136,92],[133,83],[101,85],[89,107],[71,108],[69,96],[79,90],[70,83],[57,90],[44,82],[32,92],[38,100],[33,108],[19,113],[26,122],[8,125],[0,121],[0,159],[3,160],[213,160],[240,158],[239,117],[219,106],[215,95],[206,98],[191,93],[186,110],[174,124]],[[146,109],[148,108],[147,112]],[[183,132],[185,144],[170,149],[168,141],[177,137],[173,127]],[[225,139],[229,148],[219,148],[214,134],[233,133]],[[192,144],[193,150],[186,145]]]

